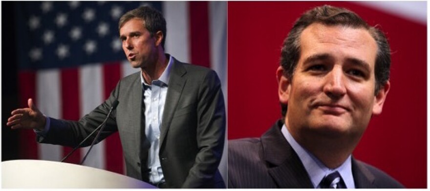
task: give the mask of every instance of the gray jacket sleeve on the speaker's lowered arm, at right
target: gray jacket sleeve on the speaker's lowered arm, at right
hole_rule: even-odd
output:
[[[225,139],[225,106],[221,84],[210,70],[199,86],[196,140],[198,153],[182,188],[204,188],[213,180]]]

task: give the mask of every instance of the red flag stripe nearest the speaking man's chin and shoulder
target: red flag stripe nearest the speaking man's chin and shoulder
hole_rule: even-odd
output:
[[[103,65],[104,98],[108,99],[110,92],[121,79],[121,63],[107,63]],[[105,143],[106,170],[124,174],[123,149],[118,132],[110,135]]]

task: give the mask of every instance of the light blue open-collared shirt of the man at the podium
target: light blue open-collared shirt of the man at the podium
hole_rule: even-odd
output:
[[[158,80],[151,82],[151,85],[145,82],[143,75],[140,75],[145,103],[145,135],[151,143],[151,148],[148,151],[149,180],[151,183],[165,182],[158,153],[160,150],[161,119],[172,65],[173,59],[170,56],[166,69]]]

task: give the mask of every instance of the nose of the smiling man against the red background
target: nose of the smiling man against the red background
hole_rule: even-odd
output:
[[[327,73],[323,91],[332,99],[339,99],[345,95],[345,75],[341,67],[333,67],[333,69]]]

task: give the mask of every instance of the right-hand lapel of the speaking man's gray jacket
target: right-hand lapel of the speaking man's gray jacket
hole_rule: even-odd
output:
[[[169,130],[170,124],[176,105],[178,104],[179,98],[181,97],[182,89],[186,83],[184,75],[187,73],[184,66],[179,63],[176,59],[173,59],[172,72],[170,74],[169,86],[166,95],[166,102],[164,105],[163,118],[161,123],[161,136],[160,146],[164,142],[164,138]],[[161,148],[161,147],[160,147]]]

